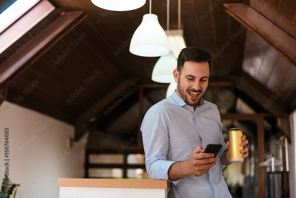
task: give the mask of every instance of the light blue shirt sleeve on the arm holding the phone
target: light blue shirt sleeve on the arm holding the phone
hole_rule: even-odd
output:
[[[174,161],[166,158],[169,147],[168,119],[160,109],[151,107],[144,116],[141,132],[149,177],[153,180],[169,180],[168,170]],[[178,181],[171,182],[177,184]]]

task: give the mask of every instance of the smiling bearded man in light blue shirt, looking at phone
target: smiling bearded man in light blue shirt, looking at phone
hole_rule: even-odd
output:
[[[141,131],[150,178],[169,180],[168,197],[231,197],[221,166],[229,165],[229,142],[222,137],[218,108],[204,101],[211,55],[196,47],[181,50],[173,71],[177,89],[146,113]],[[208,112],[212,112],[210,115]],[[246,136],[241,153],[248,156]],[[207,144],[222,144],[218,157],[203,153]]]

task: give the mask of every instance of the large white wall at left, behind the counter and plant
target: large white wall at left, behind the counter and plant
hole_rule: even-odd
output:
[[[36,131],[39,126],[43,126],[43,131]],[[4,128],[9,128],[9,158],[4,157]],[[5,171],[4,162],[7,162],[4,159],[10,159],[9,179],[20,184],[16,197],[58,198],[57,178],[84,177],[87,137],[74,144],[73,151],[67,154],[67,136],[74,137],[73,125],[4,101],[0,106],[0,179]],[[26,141],[30,144],[21,149]],[[66,157],[61,160],[60,154]],[[61,160],[59,164],[57,159]]]

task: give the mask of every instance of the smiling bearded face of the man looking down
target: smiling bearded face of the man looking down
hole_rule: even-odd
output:
[[[209,82],[209,63],[185,61],[181,75],[177,69],[173,74],[177,82],[177,95],[189,106],[197,106]]]

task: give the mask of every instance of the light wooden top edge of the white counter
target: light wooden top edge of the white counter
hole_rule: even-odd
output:
[[[137,189],[169,189],[167,180],[139,180],[139,179],[76,179],[58,178],[60,187],[94,187],[94,188],[137,188]]]

